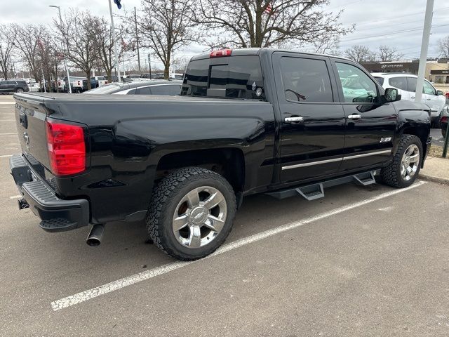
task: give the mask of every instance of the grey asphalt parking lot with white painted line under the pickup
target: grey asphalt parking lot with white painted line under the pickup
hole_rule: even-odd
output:
[[[142,223],[39,229],[18,211],[20,152],[0,95],[1,336],[449,336],[449,187],[343,185],[248,197],[227,244],[179,263]],[[5,104],[6,103],[6,104]]]

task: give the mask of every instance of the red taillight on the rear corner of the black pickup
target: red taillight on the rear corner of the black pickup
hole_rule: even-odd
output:
[[[48,158],[55,176],[86,170],[86,143],[81,126],[46,121]]]

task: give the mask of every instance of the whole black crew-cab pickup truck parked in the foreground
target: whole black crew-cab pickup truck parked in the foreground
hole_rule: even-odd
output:
[[[429,107],[355,62],[267,48],[189,62],[179,96],[15,94],[23,199],[59,232],[145,220],[182,260],[212,253],[244,196],[323,197],[340,183],[407,187],[431,145]]]

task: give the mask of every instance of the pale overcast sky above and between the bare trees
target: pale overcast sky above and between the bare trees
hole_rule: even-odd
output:
[[[61,10],[76,6],[86,8],[96,15],[109,17],[108,0],[1,0],[0,23],[41,23],[49,24],[57,15],[56,8]],[[330,0],[328,11],[344,10],[340,22],[350,26],[356,24],[356,30],[341,38],[340,49],[344,50],[354,44],[363,44],[371,49],[380,44],[397,48],[405,58],[417,58],[420,54],[422,25],[426,0]],[[140,0],[121,0],[123,9],[133,11],[140,6]],[[118,13],[116,6],[114,12]],[[429,57],[438,56],[437,41],[449,35],[449,2],[435,0],[434,19],[429,46]],[[439,27],[441,26],[441,27]],[[415,29],[415,30],[413,30]],[[191,46],[182,54],[191,56],[201,53],[205,48]],[[147,51],[141,51],[141,57]],[[180,52],[181,54],[181,52]],[[176,55],[179,56],[179,55]]]

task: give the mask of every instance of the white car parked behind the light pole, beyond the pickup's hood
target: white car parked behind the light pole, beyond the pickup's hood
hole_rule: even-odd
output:
[[[397,88],[402,95],[403,100],[415,101],[417,76],[413,74],[398,73],[372,73],[373,77],[383,88]],[[422,88],[422,103],[431,108],[431,122],[438,124],[438,119],[446,104],[445,96],[442,91],[436,88],[427,79],[424,79]]]

